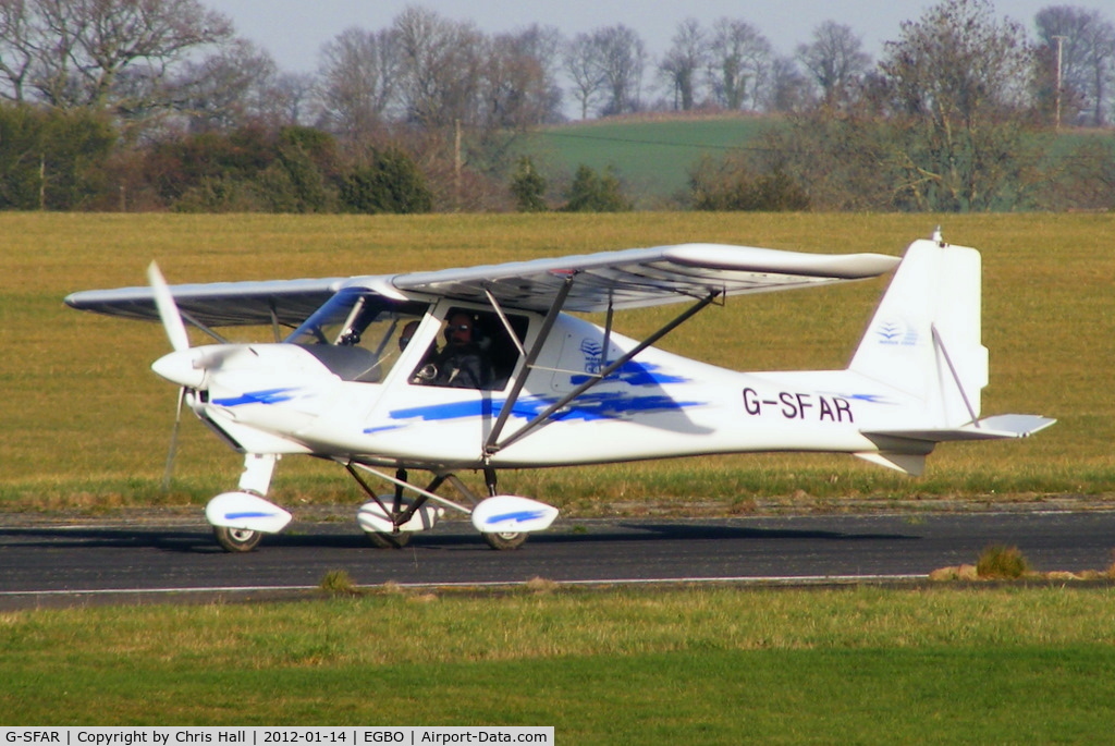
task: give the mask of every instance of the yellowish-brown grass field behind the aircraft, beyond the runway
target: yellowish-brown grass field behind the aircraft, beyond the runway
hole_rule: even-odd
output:
[[[64,307],[69,292],[144,282],[157,259],[172,282],[396,272],[607,249],[717,241],[805,251],[901,253],[942,224],[983,251],[985,414],[1057,417],[1019,443],[944,445],[911,479],[851,457],[689,458],[508,473],[503,483],[572,515],[601,503],[715,500],[840,504],[854,497],[1115,494],[1113,215],[71,215],[2,214],[0,506],[201,504],[235,484],[241,458],[196,420],[183,427],[174,490],[159,488],[175,391],[149,364],[157,324]],[[737,369],[842,367],[884,281],[733,299],[663,347]],[[623,314],[639,333],[673,309]],[[198,338],[198,342],[203,341]],[[289,458],[280,503],[351,502],[336,467]],[[795,502],[796,504],[796,502]]]

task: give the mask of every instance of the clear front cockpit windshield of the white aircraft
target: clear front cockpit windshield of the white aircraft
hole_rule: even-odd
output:
[[[346,288],[283,341],[298,345],[343,380],[387,377],[429,306]]]

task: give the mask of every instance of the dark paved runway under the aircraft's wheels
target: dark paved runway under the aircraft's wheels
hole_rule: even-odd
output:
[[[975,562],[993,543],[1017,545],[1038,570],[1095,570],[1115,549],[1106,511],[566,520],[511,552],[488,549],[462,521],[401,550],[375,549],[346,521],[295,522],[254,552],[226,554],[200,516],[157,521],[9,525],[0,515],[0,607],[89,592],[313,588],[332,570],[361,585],[905,578]]]

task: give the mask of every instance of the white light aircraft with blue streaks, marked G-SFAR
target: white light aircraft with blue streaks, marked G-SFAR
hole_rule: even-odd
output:
[[[844,370],[737,372],[652,347],[729,296],[895,267]],[[66,302],[162,320],[174,351],[152,368],[180,387],[180,410],[184,401],[244,454],[237,490],[205,508],[227,551],[290,522],[266,495],[293,454],[348,469],[368,493],[357,521],[379,545],[403,545],[448,508],[513,549],[558,508],[501,494],[500,469],[831,452],[917,475],[938,443],[1024,437],[1055,422],[980,419],[980,254],[939,233],[901,261],[694,243],[394,275],[175,287],[154,264],[148,275],[149,287]],[[641,341],[613,330],[614,311],[677,302],[688,306]],[[191,347],[186,323],[217,343]],[[235,324],[270,324],[281,341],[227,343],[214,331]],[[416,469],[432,474],[426,486],[409,481]],[[463,469],[483,471],[486,495],[455,476]],[[369,476],[394,493],[377,494]],[[455,500],[437,494],[446,483]]]

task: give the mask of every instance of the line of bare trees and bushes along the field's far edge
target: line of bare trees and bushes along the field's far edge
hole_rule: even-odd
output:
[[[689,18],[653,58],[620,23],[487,35],[421,7],[282,72],[200,0],[0,0],[0,209],[623,210],[621,174],[543,174],[532,128],[642,112],[760,112],[758,145],[694,165],[679,207],[1112,207],[1115,26],[944,0],[879,60],[825,21],[793,55]],[[552,186],[553,185],[553,186]]]

